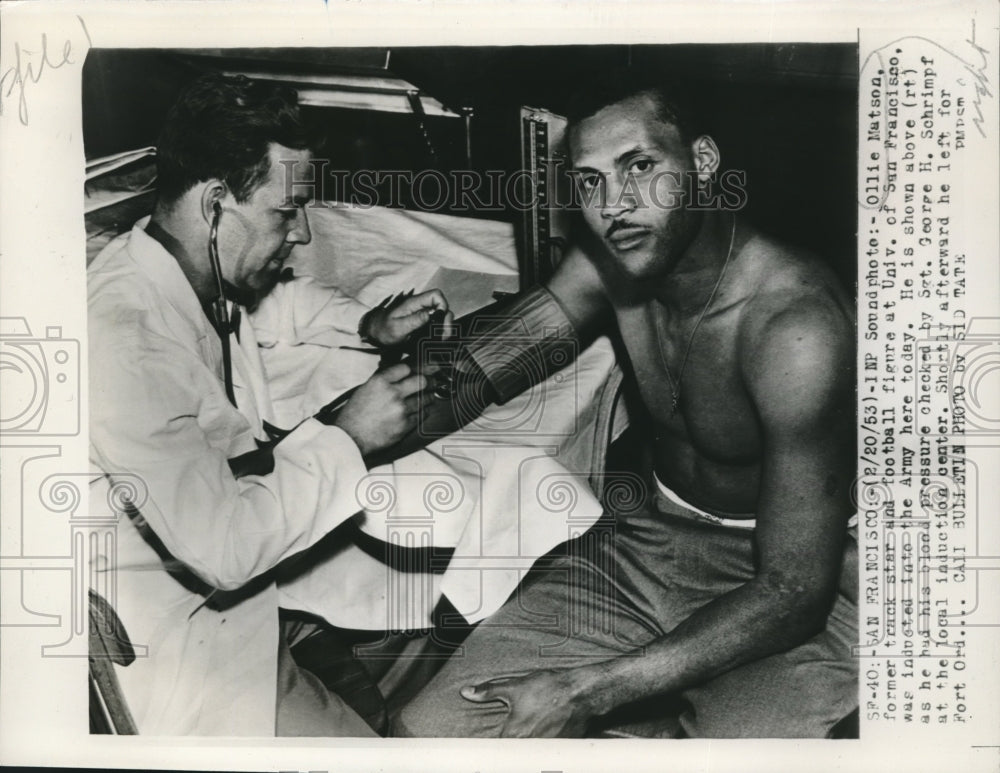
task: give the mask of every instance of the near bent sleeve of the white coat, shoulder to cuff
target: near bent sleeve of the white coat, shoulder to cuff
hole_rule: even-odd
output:
[[[315,419],[275,448],[272,473],[234,478],[220,446],[246,419],[197,353],[141,321],[92,317],[89,367],[94,461],[141,478],[142,517],[211,586],[240,587],[359,510],[361,454]]]

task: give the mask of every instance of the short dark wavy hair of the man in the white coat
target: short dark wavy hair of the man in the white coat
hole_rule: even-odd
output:
[[[242,75],[204,75],[167,114],[157,147],[161,201],[176,201],[199,182],[219,179],[240,203],[267,179],[270,143],[310,147],[298,94]]]

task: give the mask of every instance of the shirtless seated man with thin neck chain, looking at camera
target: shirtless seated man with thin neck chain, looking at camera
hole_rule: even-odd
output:
[[[397,731],[578,737],[673,694],[689,736],[824,737],[857,706],[851,300],[816,258],[687,206],[720,153],[670,94],[605,95],[569,143],[598,245],[547,289],[581,339],[617,324],[654,503],[536,569]]]

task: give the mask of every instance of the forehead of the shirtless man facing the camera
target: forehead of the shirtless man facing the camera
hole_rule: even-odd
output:
[[[608,166],[634,150],[682,148],[677,127],[663,119],[656,97],[647,93],[602,107],[575,123],[569,133],[570,157],[578,169]]]

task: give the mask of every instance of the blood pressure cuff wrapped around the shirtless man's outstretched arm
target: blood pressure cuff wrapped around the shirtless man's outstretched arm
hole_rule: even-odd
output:
[[[544,287],[518,295],[462,332],[464,354],[482,371],[499,405],[565,367],[580,350],[573,324]]]

